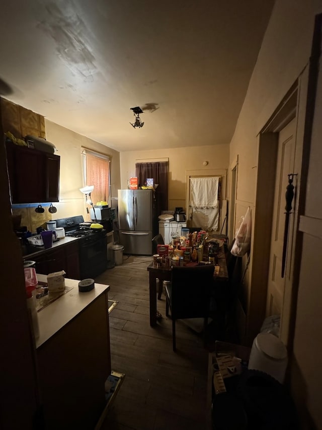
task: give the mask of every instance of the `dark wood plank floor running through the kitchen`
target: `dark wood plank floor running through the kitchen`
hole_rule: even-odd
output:
[[[163,315],[149,325],[147,266],[151,257],[124,256],[96,282],[110,285],[109,299],[118,300],[110,313],[112,370],[125,374],[102,430],[189,430],[206,428],[207,360],[215,330],[209,325],[209,347],[201,334],[177,322],[177,352],[172,350],[172,322],[165,296],[158,300]]]

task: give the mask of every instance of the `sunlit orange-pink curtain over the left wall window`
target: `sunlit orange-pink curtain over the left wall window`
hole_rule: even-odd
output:
[[[103,158],[86,152],[86,185],[94,185],[91,194],[94,205],[102,200],[108,202],[109,170],[110,162],[106,157]]]

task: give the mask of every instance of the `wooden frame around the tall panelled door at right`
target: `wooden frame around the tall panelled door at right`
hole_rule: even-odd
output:
[[[277,161],[277,148],[279,131],[282,130],[288,122],[296,117],[296,159],[299,160],[294,169],[297,173],[297,190],[300,190],[300,173],[303,150],[303,136],[305,123],[305,109],[308,84],[308,68],[305,68],[299,78],[287,92],[282,102],[277,106],[266,125],[260,131],[257,139],[257,179],[254,208],[253,235],[251,244],[251,289],[248,293],[247,320],[246,320],[246,342],[251,344],[253,339],[259,333],[261,325],[266,314],[266,297],[267,283],[269,274],[269,256],[271,234],[267,232],[272,229],[273,220],[273,201],[275,187],[275,173]],[[286,191],[286,190],[285,190]],[[263,196],[265,196],[263,198]],[[298,201],[296,196],[295,207],[293,208],[293,229],[289,231],[289,240],[295,243],[296,226],[298,224]],[[293,296],[293,272],[294,258],[296,250],[293,249],[290,256],[288,255],[288,281],[285,285],[285,294],[289,299],[285,300],[284,306],[292,305]],[[282,341],[287,345],[289,335],[289,321],[281,322]]]

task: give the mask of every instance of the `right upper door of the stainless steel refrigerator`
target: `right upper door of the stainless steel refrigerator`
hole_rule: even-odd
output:
[[[137,231],[152,231],[152,190],[134,190],[134,224]],[[121,229],[121,226],[120,226]],[[125,228],[124,228],[125,230]]]

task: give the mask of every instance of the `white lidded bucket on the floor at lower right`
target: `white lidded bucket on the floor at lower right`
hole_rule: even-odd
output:
[[[270,333],[258,334],[253,342],[248,368],[265,372],[283,384],[286,366],[284,343]]]

